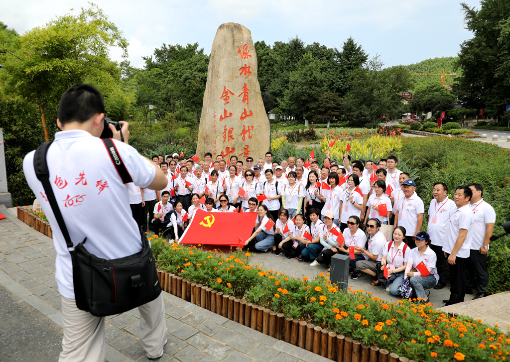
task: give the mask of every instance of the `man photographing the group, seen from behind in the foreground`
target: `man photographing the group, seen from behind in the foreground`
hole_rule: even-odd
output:
[[[103,98],[97,89],[87,84],[68,89],[58,110],[57,125],[62,132],[55,134],[46,159],[49,180],[71,241],[76,245],[87,238],[86,247],[91,254],[111,260],[140,252],[142,242],[140,230],[130,217],[127,189],[105,144],[99,139],[105,127],[104,113]],[[166,185],[163,171],[127,144],[128,123],[120,124],[124,143],[120,141],[120,132],[113,125],[109,128],[115,151],[133,183],[151,190],[163,189]],[[44,188],[35,174],[34,153],[32,151],[25,156],[23,171],[32,191],[40,195]],[[55,276],[62,296],[64,329],[60,360],[103,361],[105,317],[95,317],[78,309],[71,254],[49,201],[42,198],[40,203],[52,224],[57,252]],[[167,341],[162,296],[139,306],[138,311],[142,346],[149,358],[158,358],[163,355]]]

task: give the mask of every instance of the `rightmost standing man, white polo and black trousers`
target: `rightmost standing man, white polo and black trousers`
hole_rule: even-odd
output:
[[[494,208],[482,199],[483,187],[480,184],[470,184],[468,187],[473,192],[469,206],[473,215],[473,228],[468,231],[472,238],[469,259],[466,268],[466,294],[471,294],[474,286],[474,273],[478,275],[476,286],[477,293],[473,299],[488,296],[489,270],[487,269],[487,253],[491,242],[496,212]]]

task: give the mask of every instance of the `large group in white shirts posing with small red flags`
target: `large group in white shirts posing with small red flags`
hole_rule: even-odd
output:
[[[424,232],[423,201],[410,175],[397,169],[395,156],[353,161],[345,153],[341,165],[329,158],[277,163],[271,152],[256,164],[251,157],[245,162],[212,157],[180,160],[174,153],[166,162],[152,157],[167,187],[151,192],[128,185],[133,216],[140,216],[144,230],[150,212],[149,229],[178,241],[196,210],[242,209],[258,213],[245,241],[252,251],[271,250],[311,266],[329,266],[333,255],[346,254],[351,279],[369,274],[372,285],[382,284],[394,295],[404,295],[402,285],[409,283],[423,302],[425,289],[446,286],[448,269],[446,305],[464,301],[473,288],[475,298],[487,295],[486,257],[496,214],[482,199],[481,185],[450,190],[452,200],[446,184],[436,183]]]

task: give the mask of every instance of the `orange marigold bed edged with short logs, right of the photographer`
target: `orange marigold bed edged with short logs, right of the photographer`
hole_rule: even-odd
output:
[[[171,280],[172,294],[182,297],[186,290],[185,299],[192,300],[194,295],[197,303],[199,291],[197,304],[237,321],[243,308],[245,325],[246,308],[253,303],[249,305],[250,327],[321,355],[325,353],[331,359],[344,360],[345,356],[345,360],[387,360],[388,355],[379,359],[378,348],[385,349],[386,354],[390,350],[423,361],[504,360],[510,353],[510,339],[499,330],[465,316],[452,318],[430,304],[401,300],[387,303],[369,292],[350,288],[342,292],[323,273],[311,280],[296,279],[252,267],[248,265],[250,254],[242,251],[226,255],[217,250],[169,244],[157,237],[150,239],[158,267],[166,271],[162,275],[168,278],[170,273],[176,274],[162,281],[168,289]],[[182,283],[184,278],[189,281],[189,289],[188,282]],[[193,289],[191,282],[196,283]],[[283,316],[287,318],[284,320]],[[339,353],[336,358],[331,357],[330,350],[339,351],[340,334],[346,336],[341,343],[342,358]],[[350,339],[360,342],[351,343]],[[369,343],[375,346],[367,347]],[[376,350],[375,357],[368,359],[372,350]],[[363,359],[364,355],[367,359]],[[398,355],[389,360],[398,360]]]

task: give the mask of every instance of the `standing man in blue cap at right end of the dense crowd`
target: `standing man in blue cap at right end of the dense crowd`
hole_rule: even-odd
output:
[[[395,222],[393,228],[403,226],[406,237],[412,239],[421,230],[425,206],[422,199],[416,194],[416,184],[412,179],[406,179],[402,183],[404,197],[394,205]],[[411,243],[412,244],[412,243]],[[414,248],[414,245],[409,245]]]

